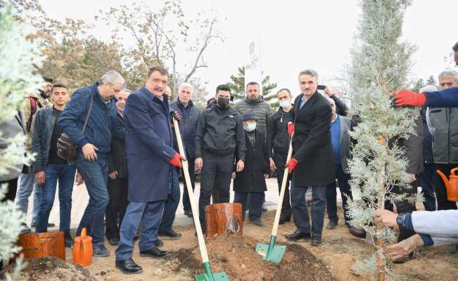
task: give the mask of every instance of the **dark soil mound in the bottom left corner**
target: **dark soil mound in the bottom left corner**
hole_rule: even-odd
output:
[[[55,257],[25,261],[27,266],[20,272],[20,277],[16,281],[96,281],[86,268],[73,266]]]

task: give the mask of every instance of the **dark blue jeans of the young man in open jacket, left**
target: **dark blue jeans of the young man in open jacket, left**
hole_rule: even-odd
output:
[[[49,213],[53,208],[57,181],[59,181],[60,204],[59,230],[70,230],[72,190],[73,181],[75,181],[75,172],[75,165],[72,164],[44,166],[44,185],[37,187],[42,189],[42,200],[37,221],[37,233],[46,233],[46,231],[48,231]]]

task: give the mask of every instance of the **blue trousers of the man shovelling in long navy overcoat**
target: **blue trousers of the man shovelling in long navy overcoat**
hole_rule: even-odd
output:
[[[147,251],[155,247],[158,240],[160,218],[163,214],[165,201],[156,202],[129,202],[126,214],[122,219],[120,229],[120,244],[117,247],[116,261],[132,258],[134,251],[134,236],[141,221],[140,251]]]

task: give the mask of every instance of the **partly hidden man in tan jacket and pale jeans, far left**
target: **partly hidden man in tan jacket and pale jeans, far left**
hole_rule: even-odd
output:
[[[24,98],[23,113],[25,119],[25,131],[27,133],[27,151],[32,151],[32,133],[34,127],[35,116],[40,108],[50,107],[49,94],[51,93],[52,79],[44,77],[44,84],[39,89],[39,93],[30,93]],[[23,174],[20,176],[18,193],[15,197],[15,205],[27,214],[29,208],[29,197],[33,191],[33,209],[32,209],[32,227],[37,226],[38,212],[40,208],[40,198],[42,197],[41,188],[35,188],[34,168],[33,165],[24,166]],[[53,226],[53,224],[49,224]],[[30,232],[30,228],[24,223],[23,232]]]

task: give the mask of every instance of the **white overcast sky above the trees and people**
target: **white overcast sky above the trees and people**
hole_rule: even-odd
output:
[[[41,0],[44,11],[52,18],[80,18],[94,24],[98,37],[108,38],[103,22],[96,22],[97,11],[110,6],[129,4],[129,0]],[[349,62],[349,50],[356,32],[360,7],[356,0],[330,1],[183,1],[184,13],[195,15],[203,9],[213,9],[223,21],[221,26],[226,40],[211,46],[205,55],[207,69],[197,75],[208,82],[208,91],[214,93],[218,84],[229,81],[237,67],[247,61],[248,40],[260,37],[262,70],[269,74],[279,88],[289,88],[298,93],[297,74],[313,68],[323,77],[322,84],[338,84],[332,81],[343,77]],[[148,1],[151,6],[162,6],[163,1]],[[425,78],[440,71],[450,63],[453,44],[458,41],[457,0],[414,0],[405,15],[404,37],[418,50],[412,58],[412,77]],[[249,32],[254,26],[258,34]]]

